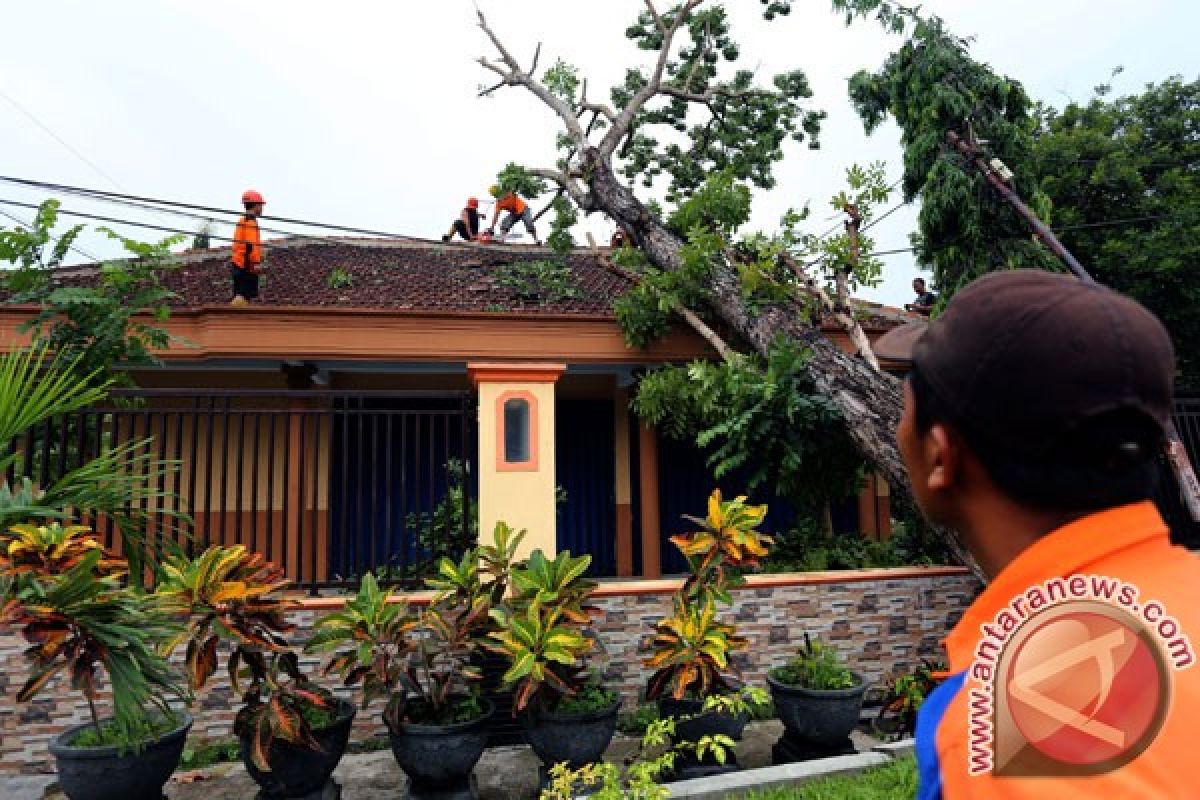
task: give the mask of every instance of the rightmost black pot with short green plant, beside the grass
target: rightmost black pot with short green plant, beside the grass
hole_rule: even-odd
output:
[[[794,658],[767,673],[767,684],[786,735],[799,742],[836,746],[858,724],[866,691],[862,675],[808,633]]]

